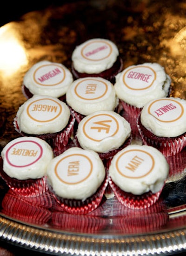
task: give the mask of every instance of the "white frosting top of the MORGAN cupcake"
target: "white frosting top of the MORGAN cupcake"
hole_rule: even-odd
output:
[[[73,76],[63,64],[50,61],[40,61],[34,64],[23,78],[23,85],[32,94],[57,98],[66,93],[72,82]]]

